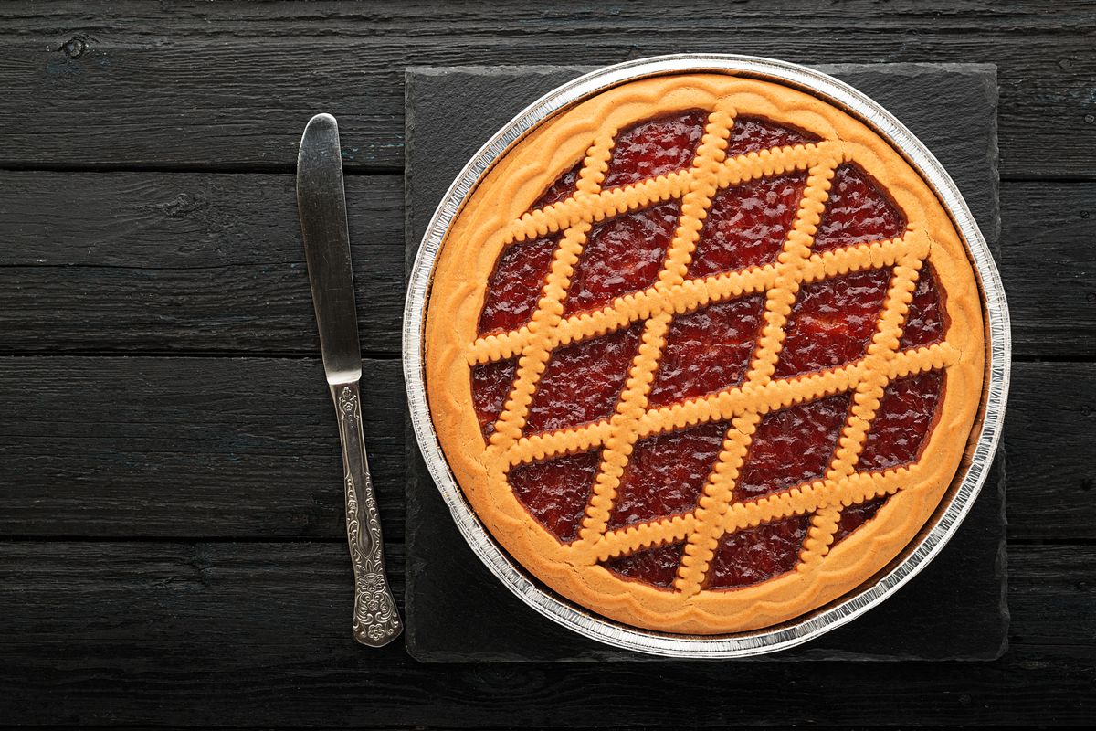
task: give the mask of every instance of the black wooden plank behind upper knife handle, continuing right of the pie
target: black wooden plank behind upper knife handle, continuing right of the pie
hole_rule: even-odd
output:
[[[403,382],[365,361],[386,538],[403,536]],[[1013,538],[1096,539],[1096,364],[1018,363]],[[318,361],[0,358],[0,536],[341,540],[339,436]]]

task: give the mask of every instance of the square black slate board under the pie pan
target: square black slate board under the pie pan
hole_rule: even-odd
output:
[[[945,164],[996,255],[997,87],[982,65],[819,67],[901,119]],[[407,253],[469,158],[517,112],[590,69],[416,68],[407,73]],[[654,659],[576,635],[527,607],[472,553],[408,430],[408,652],[424,662]],[[956,537],[855,621],[760,660],[992,660],[1006,648],[1004,471],[998,454]]]

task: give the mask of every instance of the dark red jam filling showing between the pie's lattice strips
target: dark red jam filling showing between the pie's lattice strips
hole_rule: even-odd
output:
[[[705,133],[707,113],[688,110],[621,130],[603,189],[629,185],[687,169]],[[818,139],[760,118],[735,122],[727,155],[733,157]],[[532,206],[571,196],[581,162],[563,173]],[[792,171],[717,192],[703,224],[687,277],[772,264],[783,249],[807,184]],[[676,233],[681,204],[650,205],[597,221],[586,237],[563,301],[574,317],[651,287]],[[906,221],[879,185],[855,164],[837,169],[813,251],[825,252],[901,236]],[[480,334],[529,322],[562,235],[511,244],[488,283]],[[840,368],[865,357],[890,286],[890,267],[854,271],[800,286],[785,327],[774,378]],[[946,322],[936,275],[926,263],[905,318],[901,350],[940,342]],[[648,392],[648,408],[667,407],[741,386],[765,322],[765,295],[711,302],[677,315],[670,324]],[[523,433],[574,429],[616,411],[639,352],[642,321],[556,349],[540,374]],[[472,369],[472,406],[484,439],[510,399],[515,356]],[[887,470],[916,461],[935,423],[944,376],[929,372],[889,384],[856,466]],[[849,393],[824,396],[772,411],[757,424],[739,470],[733,499],[757,500],[825,476],[852,403]],[[608,529],[682,515],[696,509],[719,454],[727,422],[700,423],[639,439],[616,491]],[[529,514],[561,542],[574,540],[601,469],[601,449],[556,455],[510,470],[509,482]],[[887,495],[846,507],[834,541],[870,521]],[[810,527],[797,515],[722,536],[705,587],[733,590],[791,571]],[[672,591],[683,544],[655,546],[612,558],[603,566],[630,581]]]

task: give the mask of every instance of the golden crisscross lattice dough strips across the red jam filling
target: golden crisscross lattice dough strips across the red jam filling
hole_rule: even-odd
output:
[[[685,595],[701,591],[713,553],[726,534],[790,515],[811,514],[796,570],[817,568],[833,541],[843,506],[893,494],[907,482],[911,471],[917,469],[913,466],[878,473],[855,471],[886,386],[895,378],[946,368],[959,357],[947,342],[907,351],[899,349],[917,276],[929,253],[925,231],[911,227],[893,239],[812,253],[831,181],[837,167],[852,160],[850,150],[841,141],[825,140],[727,158],[734,116],[735,111],[729,104],[717,103],[689,169],[625,187],[602,190],[615,132],[595,139],[583,160],[575,193],[521,216],[506,229],[507,242],[562,232],[528,324],[479,338],[467,349],[469,365],[518,358],[513,387],[487,448],[489,468],[505,475],[514,465],[601,447],[593,494],[579,537],[567,549],[578,562],[592,564],[684,540],[685,551],[674,586]],[[685,277],[707,210],[720,189],[796,170],[807,171],[807,185],[775,263],[704,278]],[[563,301],[570,279],[593,225],[669,199],[681,201],[681,215],[655,284],[618,297],[596,311],[564,318]],[[893,266],[893,275],[866,356],[821,373],[774,379],[788,316],[800,287],[847,272],[883,266]],[[674,316],[755,293],[765,295],[764,324],[743,382],[709,396],[648,409],[648,393]],[[553,350],[638,321],[643,322],[640,346],[610,418],[576,429],[522,434],[537,382]],[[761,418],[769,411],[844,391],[852,391],[852,407],[824,478],[758,500],[737,501],[735,480]],[[696,510],[618,530],[607,529],[620,478],[638,439],[724,420],[730,420],[731,426]]]

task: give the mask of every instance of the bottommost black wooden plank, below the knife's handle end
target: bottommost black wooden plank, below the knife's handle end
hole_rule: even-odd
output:
[[[351,575],[339,545],[0,542],[0,718],[461,728],[1080,723],[1096,703],[1094,567],[1093,547],[1013,547],[1013,649],[996,662],[427,673],[398,646],[369,650],[350,639]]]

